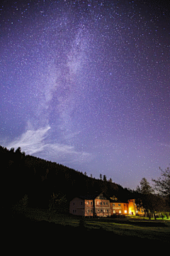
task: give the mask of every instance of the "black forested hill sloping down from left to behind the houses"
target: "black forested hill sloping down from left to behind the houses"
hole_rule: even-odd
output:
[[[69,202],[74,196],[99,193],[116,196],[121,201],[134,197],[132,191],[112,182],[91,178],[62,164],[26,155],[0,146],[1,188],[3,207],[11,206],[28,195],[30,206],[47,208],[52,193],[65,195]]]

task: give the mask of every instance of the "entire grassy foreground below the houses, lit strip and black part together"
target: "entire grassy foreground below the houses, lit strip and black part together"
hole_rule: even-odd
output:
[[[149,221],[145,220],[148,224]],[[106,218],[84,218],[74,215],[50,213],[48,210],[27,208],[15,209],[12,216],[6,217],[4,237],[16,245],[50,245],[64,249],[77,245],[98,242],[96,247],[103,250],[111,246],[157,247],[169,246],[170,222],[162,226],[137,225],[140,220],[114,220]],[[158,221],[158,223],[161,223]],[[122,249],[123,249],[122,247]],[[99,249],[100,250],[100,249]]]

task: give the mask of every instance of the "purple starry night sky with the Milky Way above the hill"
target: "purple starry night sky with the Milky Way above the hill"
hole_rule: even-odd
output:
[[[4,1],[0,144],[136,188],[170,163],[170,8]]]

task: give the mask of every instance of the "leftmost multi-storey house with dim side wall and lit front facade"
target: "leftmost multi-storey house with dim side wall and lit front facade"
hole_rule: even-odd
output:
[[[110,201],[104,193],[78,196],[69,203],[69,213],[81,216],[111,216]]]

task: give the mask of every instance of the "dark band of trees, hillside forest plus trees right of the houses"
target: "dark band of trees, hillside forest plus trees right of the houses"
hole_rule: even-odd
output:
[[[0,158],[1,206],[4,208],[22,201],[23,205],[30,207],[56,210],[55,206],[60,206],[68,211],[69,201],[75,196],[103,191],[107,196],[115,196],[122,202],[135,198],[137,206],[140,207],[142,202],[148,214],[156,211],[158,206],[164,211],[169,210],[169,168],[162,171],[162,177],[154,181],[159,192],[156,195],[145,178],[136,190],[130,190],[114,183],[111,178],[107,181],[106,175],[103,178],[100,175],[99,179],[92,178],[92,175],[89,177],[62,164],[26,155],[20,147],[15,150],[0,146]]]

